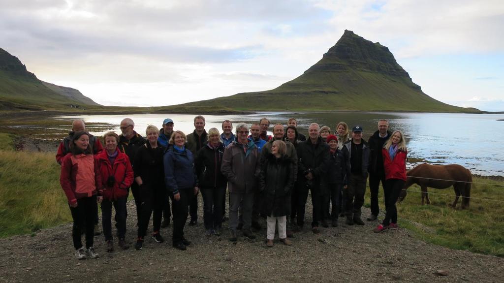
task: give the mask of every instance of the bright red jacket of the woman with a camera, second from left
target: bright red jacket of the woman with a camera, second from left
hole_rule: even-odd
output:
[[[119,197],[128,196],[128,188],[133,184],[133,168],[130,158],[117,149],[113,166],[108,159],[107,151],[104,150],[96,157],[100,167],[101,182],[103,186],[103,199],[116,200]],[[113,175],[114,185],[107,185],[108,177]]]

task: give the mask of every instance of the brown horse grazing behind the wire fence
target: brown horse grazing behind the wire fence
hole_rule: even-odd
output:
[[[426,198],[427,204],[430,204],[427,187],[446,189],[453,186],[456,196],[452,207],[455,208],[460,195],[462,195],[462,208],[469,207],[472,175],[463,166],[458,164],[430,165],[424,163],[409,170],[406,175],[408,179],[399,195],[399,201],[402,201],[406,197],[406,190],[413,184],[419,185],[422,189],[422,205],[424,205],[424,198]]]

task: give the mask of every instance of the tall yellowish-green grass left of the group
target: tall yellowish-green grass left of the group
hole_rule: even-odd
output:
[[[0,237],[72,220],[51,153],[0,151]]]

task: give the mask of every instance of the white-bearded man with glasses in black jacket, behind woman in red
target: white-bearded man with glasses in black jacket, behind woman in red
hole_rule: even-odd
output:
[[[135,130],[135,122],[130,118],[124,118],[121,121],[120,129],[121,135],[119,135],[119,145],[117,148],[123,153],[125,153],[129,158],[131,164],[135,160],[135,154],[138,148],[143,146],[147,140],[138,134]],[[142,200],[140,198],[140,188],[137,182],[133,182],[131,185],[131,192],[133,193],[133,198],[135,198],[135,206],[137,207],[137,225],[140,222],[140,211]]]

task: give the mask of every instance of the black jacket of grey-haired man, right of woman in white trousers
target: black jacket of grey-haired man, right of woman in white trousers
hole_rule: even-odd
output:
[[[329,145],[318,138],[317,144],[313,145],[311,139],[306,139],[297,146],[297,181],[299,188],[312,188],[323,192],[327,185],[327,179],[323,178],[329,167]],[[311,172],[312,180],[304,176]]]

